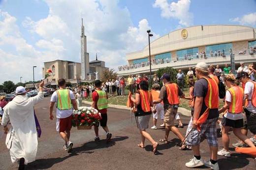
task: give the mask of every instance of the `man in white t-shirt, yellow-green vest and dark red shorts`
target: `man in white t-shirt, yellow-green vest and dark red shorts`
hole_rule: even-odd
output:
[[[53,108],[55,102],[57,102],[56,109],[56,130],[60,133],[60,136],[65,141],[64,150],[67,150],[67,153],[70,153],[72,150],[73,143],[69,141],[70,130],[71,130],[71,121],[72,121],[72,113],[73,108],[77,110],[77,104],[75,101],[74,93],[66,89],[66,81],[65,79],[59,79],[58,85],[60,87],[59,90],[56,90],[51,97],[50,102],[50,119],[53,120]]]

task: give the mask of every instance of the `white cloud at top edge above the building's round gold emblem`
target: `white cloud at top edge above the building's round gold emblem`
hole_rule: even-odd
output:
[[[153,7],[161,9],[161,17],[179,19],[180,25],[188,27],[193,23],[193,14],[189,12],[190,3],[190,0],[178,0],[170,4],[167,0],[156,0]]]

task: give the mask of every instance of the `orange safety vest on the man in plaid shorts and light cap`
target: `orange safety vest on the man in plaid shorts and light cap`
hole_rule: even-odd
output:
[[[204,98],[204,103],[209,109],[219,108],[219,88],[215,79],[203,77],[208,82],[208,91]]]

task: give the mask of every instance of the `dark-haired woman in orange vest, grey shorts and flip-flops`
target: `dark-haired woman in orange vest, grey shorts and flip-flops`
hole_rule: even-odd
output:
[[[156,154],[158,142],[153,140],[149,133],[146,132],[148,129],[149,120],[152,114],[151,107],[153,106],[153,99],[151,93],[148,91],[148,83],[145,80],[139,82],[139,90],[135,94],[135,99],[131,97],[131,101],[135,103],[137,108],[138,117],[138,128],[141,134],[141,142],[138,144],[139,147],[145,148],[145,139],[149,140],[153,145],[153,153]]]

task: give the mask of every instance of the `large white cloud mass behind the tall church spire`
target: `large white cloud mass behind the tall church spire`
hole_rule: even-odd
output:
[[[148,44],[146,19],[133,26],[127,8],[120,8],[118,0],[45,0],[49,6],[48,16],[33,20],[27,16],[18,21],[7,12],[0,11],[0,58],[8,75],[0,77],[0,83],[11,80],[15,83],[32,81],[32,66],[35,80],[41,79],[43,62],[63,59],[81,62],[80,36],[81,11],[87,36],[87,52],[90,60],[105,61],[106,67],[117,69],[127,64],[126,53],[142,50]],[[3,18],[3,19],[2,19]],[[18,25],[18,23],[22,23]],[[26,35],[19,29],[25,29]],[[24,33],[24,31],[23,31]],[[154,39],[159,35],[154,33]],[[29,42],[29,43],[28,43]],[[7,50],[4,47],[9,45]]]

